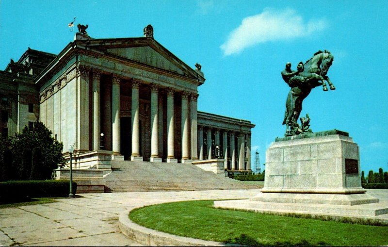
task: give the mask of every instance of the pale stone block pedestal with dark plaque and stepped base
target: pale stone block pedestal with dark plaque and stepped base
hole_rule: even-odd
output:
[[[373,218],[388,203],[361,187],[359,148],[337,130],[276,138],[267,149],[264,188],[249,200],[215,201],[218,208]]]

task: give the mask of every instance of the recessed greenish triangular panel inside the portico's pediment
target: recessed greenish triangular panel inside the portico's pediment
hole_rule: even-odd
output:
[[[143,47],[127,47],[127,48],[112,48],[106,50],[116,56],[124,57],[142,64],[161,68],[171,72],[184,75],[182,68],[179,68],[171,60],[157,52],[149,46]]]

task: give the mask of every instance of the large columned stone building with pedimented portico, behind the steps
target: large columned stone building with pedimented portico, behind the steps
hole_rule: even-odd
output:
[[[77,33],[57,56],[42,54],[44,68],[20,69],[17,77],[29,74],[28,86],[36,91],[32,98],[39,102],[34,114],[63,142],[65,156],[67,147],[75,144],[77,167],[109,169],[112,160],[195,163],[223,159],[225,169],[251,170],[254,125],[198,112],[197,87],[205,82],[200,66],[187,66],[152,33],[109,39]],[[18,63],[21,67],[29,64],[22,59]],[[16,73],[9,67],[1,72]],[[1,78],[1,84],[12,83],[4,79],[12,76]],[[20,103],[17,97],[11,98],[15,105]],[[25,122],[19,120],[7,124]]]

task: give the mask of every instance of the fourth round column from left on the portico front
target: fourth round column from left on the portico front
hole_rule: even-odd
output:
[[[162,162],[159,158],[158,90],[157,85],[151,85],[151,162]]]

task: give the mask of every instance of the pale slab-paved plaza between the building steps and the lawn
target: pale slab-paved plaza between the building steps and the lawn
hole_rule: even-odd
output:
[[[0,209],[0,246],[139,246],[118,229],[133,208],[172,201],[251,198],[259,190],[82,194],[55,203]],[[388,202],[388,190],[368,190]],[[388,214],[387,214],[388,217]]]

